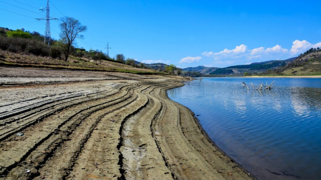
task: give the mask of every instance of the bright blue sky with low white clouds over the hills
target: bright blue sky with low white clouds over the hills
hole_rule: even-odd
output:
[[[109,42],[111,57],[123,53],[146,63],[227,67],[284,60],[321,47],[321,1],[50,2],[51,17],[70,16],[87,26],[78,47],[106,52]],[[46,4],[46,0],[1,0],[0,27],[44,34],[44,21],[33,18],[45,16],[37,8]],[[58,23],[50,23],[55,39],[59,39]]]

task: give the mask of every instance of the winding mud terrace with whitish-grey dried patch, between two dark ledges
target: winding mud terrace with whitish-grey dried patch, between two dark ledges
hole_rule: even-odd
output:
[[[173,84],[175,82],[160,86],[172,86]],[[155,144],[152,144],[152,132],[149,128],[154,113],[160,107],[145,94],[149,94],[155,88],[157,86],[139,92],[147,99],[147,103],[122,122],[119,132],[121,141],[118,146],[121,152],[119,163],[122,179],[149,179],[156,176],[162,179],[170,179],[170,176],[167,175],[170,171],[161,161],[161,155],[157,154]],[[155,169],[157,169],[157,172]]]

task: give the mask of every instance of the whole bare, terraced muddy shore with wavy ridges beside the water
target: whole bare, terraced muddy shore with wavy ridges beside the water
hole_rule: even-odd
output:
[[[3,179],[253,179],[167,97],[188,79],[0,70]]]

